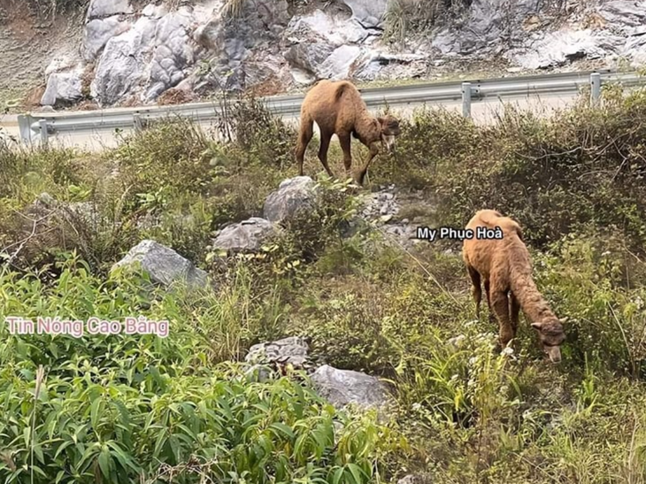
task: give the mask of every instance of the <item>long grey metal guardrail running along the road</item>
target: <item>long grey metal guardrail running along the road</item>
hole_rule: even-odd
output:
[[[637,73],[587,71],[520,76],[468,82],[434,82],[393,88],[364,88],[361,95],[368,108],[410,104],[462,101],[463,114],[471,115],[471,104],[496,98],[500,101],[515,97],[540,95],[575,95],[581,87],[591,86],[591,97],[596,100],[602,83],[620,82],[625,87],[646,85],[646,79]],[[269,96],[264,101],[275,115],[297,117],[304,94]],[[20,137],[24,142],[47,142],[50,134],[92,132],[116,128],[141,128],[149,120],[171,115],[186,116],[200,122],[220,117],[217,101],[171,106],[113,108],[101,111],[37,112],[18,117]]]

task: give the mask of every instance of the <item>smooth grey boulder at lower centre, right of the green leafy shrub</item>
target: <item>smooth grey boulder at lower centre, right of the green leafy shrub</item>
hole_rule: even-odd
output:
[[[311,382],[319,395],[337,408],[353,403],[382,409],[388,404],[388,392],[383,383],[365,373],[323,365],[311,375]]]

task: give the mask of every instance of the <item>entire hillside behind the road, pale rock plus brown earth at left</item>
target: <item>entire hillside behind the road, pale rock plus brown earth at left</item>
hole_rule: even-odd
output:
[[[5,107],[182,103],[537,69],[639,67],[646,2],[627,0],[4,0]],[[27,88],[31,88],[27,93]]]

